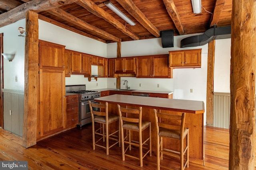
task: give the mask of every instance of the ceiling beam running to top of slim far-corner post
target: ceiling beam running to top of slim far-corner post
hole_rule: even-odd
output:
[[[55,16],[58,16],[59,18],[62,18],[63,20],[66,20],[70,23],[78,25],[88,31],[93,31],[97,35],[101,35],[107,39],[111,39],[112,41],[115,41],[115,42],[121,41],[120,38],[106,32],[106,31],[103,31],[102,29],[98,29],[97,27],[94,27],[93,25],[90,25],[89,23],[87,23],[83,20],[80,20],[79,18],[76,18],[72,14],[69,14],[68,12],[66,12],[60,8],[54,8],[52,10],[47,10],[47,12],[49,12],[50,14],[53,14]]]

